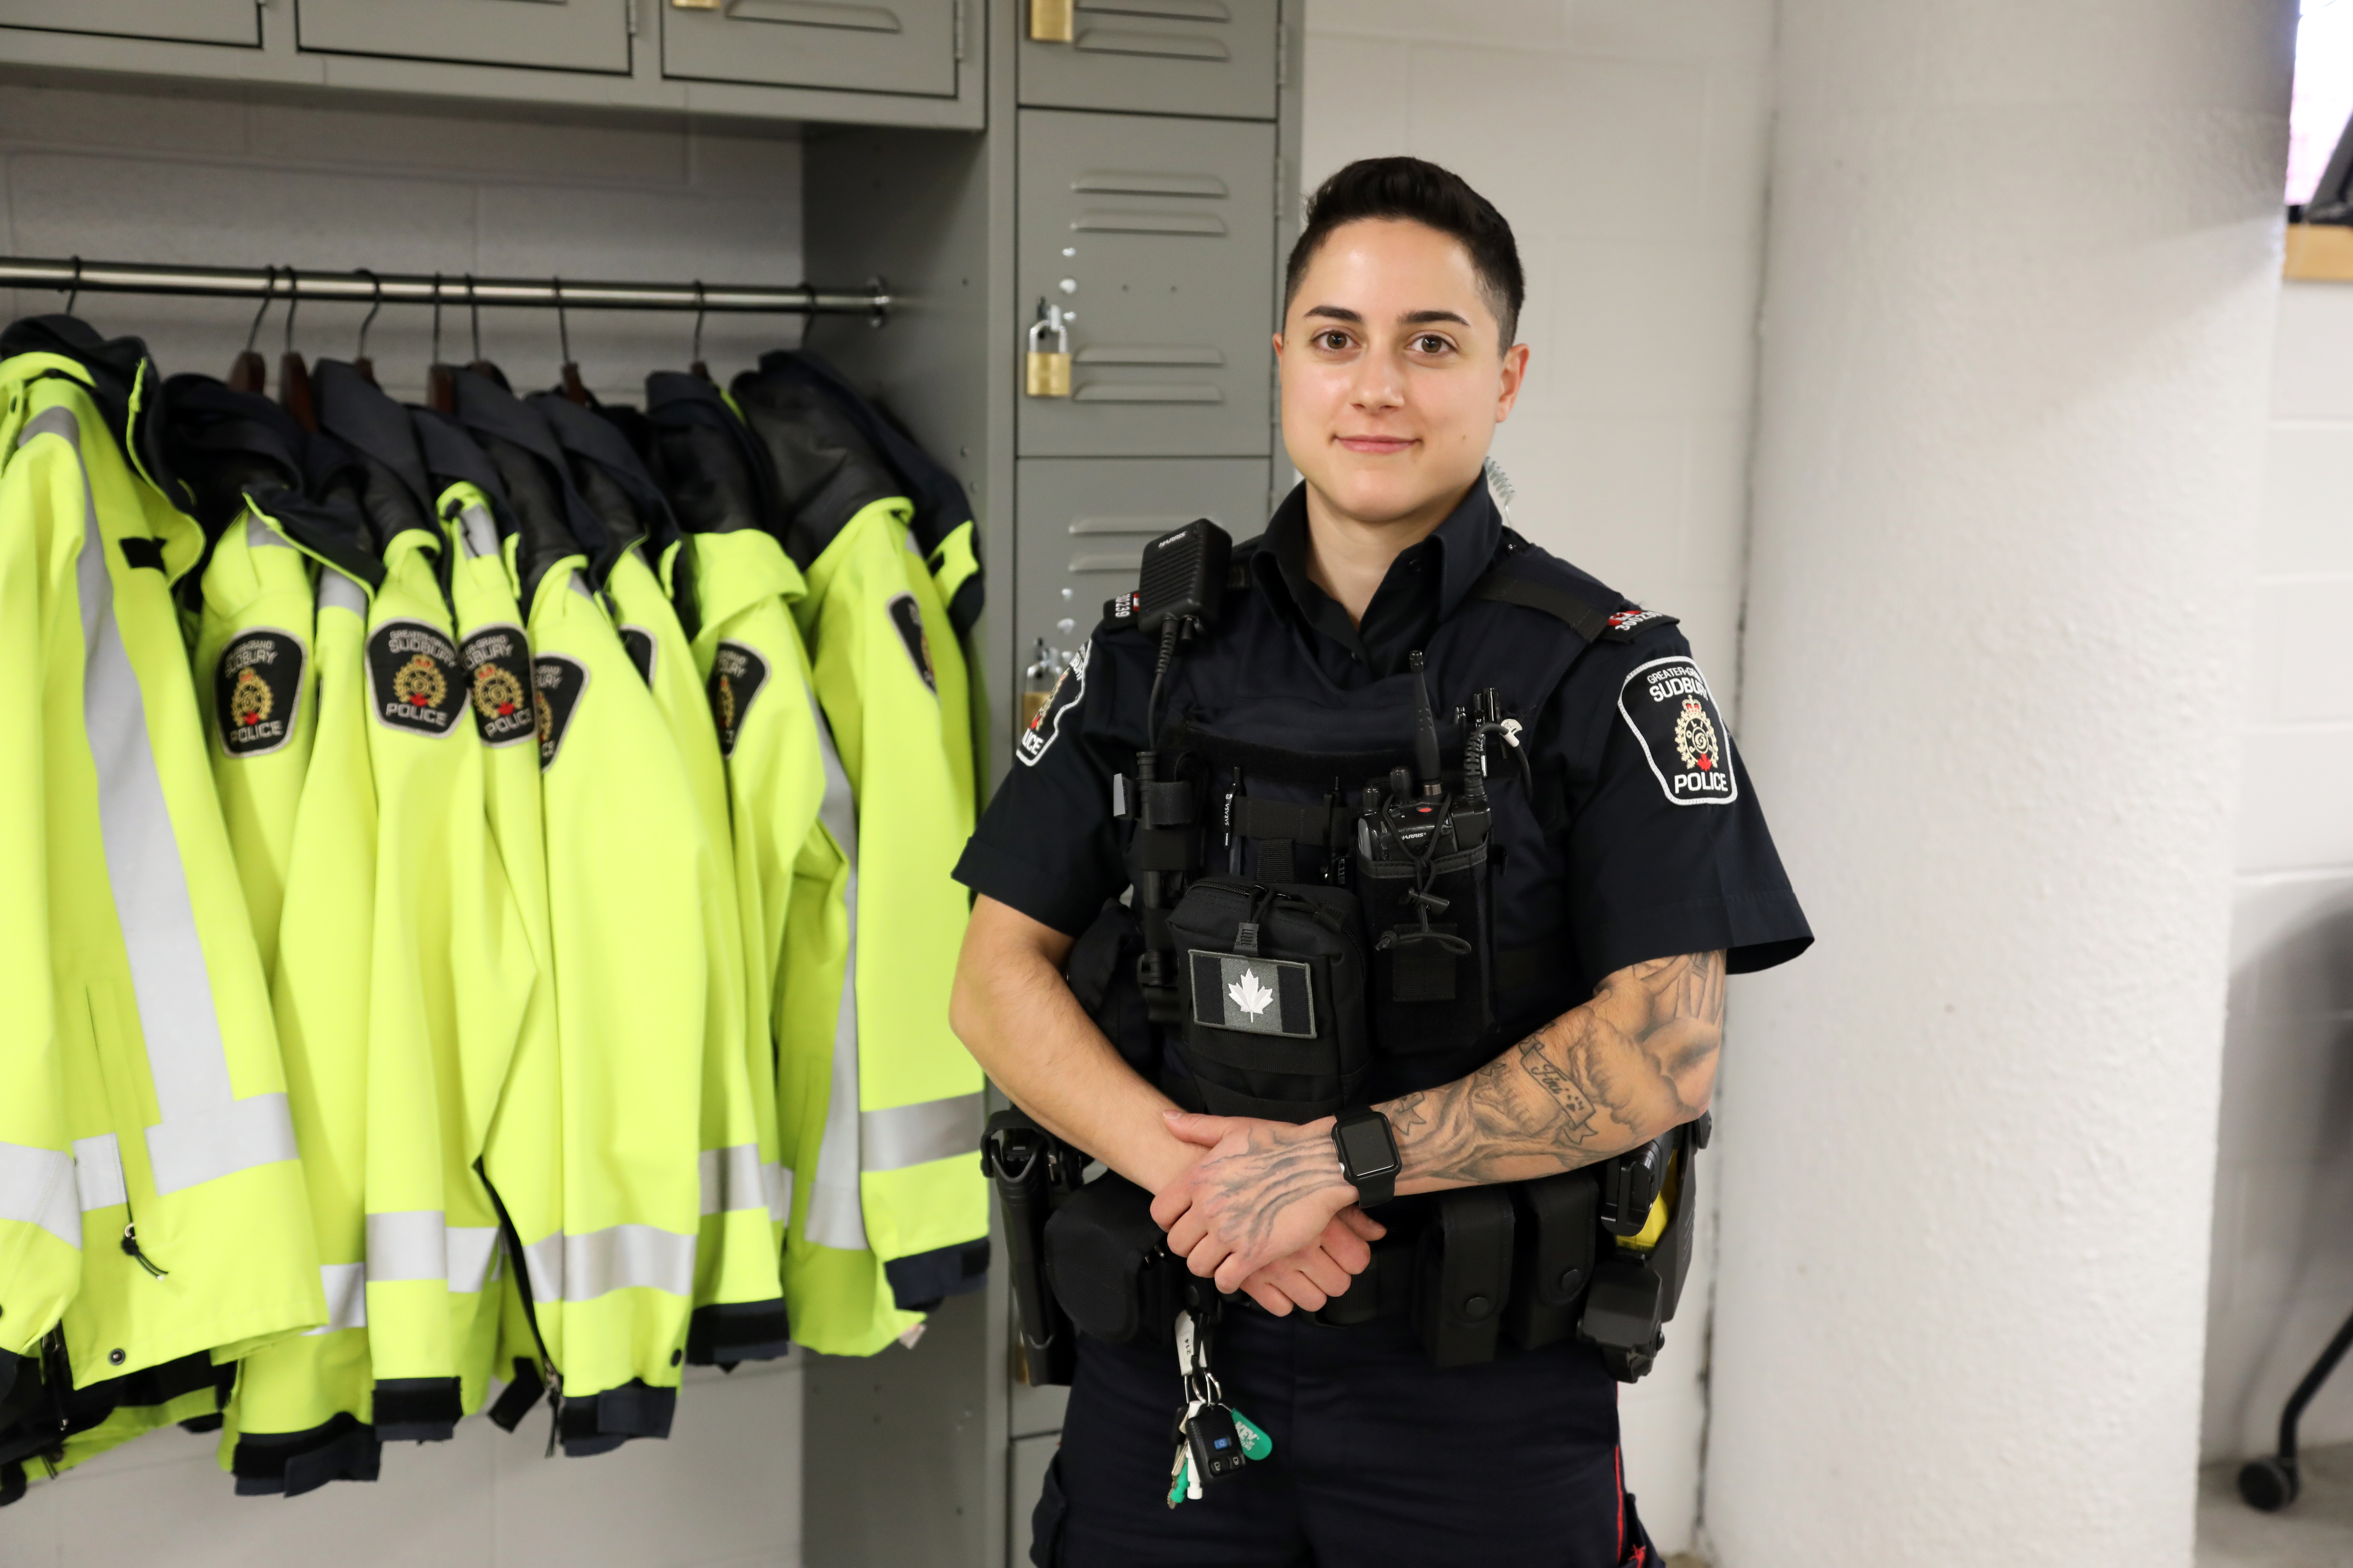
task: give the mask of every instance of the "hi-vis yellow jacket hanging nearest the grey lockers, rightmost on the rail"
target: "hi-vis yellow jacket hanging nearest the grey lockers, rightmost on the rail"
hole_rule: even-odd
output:
[[[955,726],[941,717],[944,686],[960,691],[939,677],[955,637],[908,545],[904,487],[840,409],[765,371],[739,376],[732,395],[786,505],[784,543],[809,588],[795,618],[854,795],[854,813],[831,799],[824,811],[847,860],[849,919],[831,1053],[805,1063],[798,1105],[779,1093],[781,1119],[798,1110],[819,1128],[814,1159],[807,1138],[800,1150],[807,1194],[788,1274],[824,1279],[845,1333],[864,1319],[849,1338],[875,1349],[988,1267],[972,1157],[981,1070],[948,1030],[967,903],[944,879],[972,832],[972,795],[944,741]],[[800,1298],[788,1300],[816,1345]]]

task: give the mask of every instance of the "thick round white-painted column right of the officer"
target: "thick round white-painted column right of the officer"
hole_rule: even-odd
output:
[[[1781,5],[1722,1568],[2191,1561],[2289,28]]]

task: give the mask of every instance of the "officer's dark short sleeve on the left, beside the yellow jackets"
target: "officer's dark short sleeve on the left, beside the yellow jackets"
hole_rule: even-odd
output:
[[[955,863],[955,879],[974,893],[1064,936],[1082,933],[1127,886],[1111,778],[1134,759],[1139,741],[1127,731],[1141,736],[1144,726],[1122,722],[1120,675],[1104,637],[1078,651],[1014,741],[1012,766]]]

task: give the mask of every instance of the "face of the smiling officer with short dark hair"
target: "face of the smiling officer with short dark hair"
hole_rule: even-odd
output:
[[[1527,374],[1471,252],[1409,221],[1332,230],[1275,339],[1282,444],[1322,503],[1435,527],[1478,480]]]

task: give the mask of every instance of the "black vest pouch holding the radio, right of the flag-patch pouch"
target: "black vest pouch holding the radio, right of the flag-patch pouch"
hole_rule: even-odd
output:
[[[1367,790],[1369,795],[1369,790]],[[1358,818],[1355,889],[1372,940],[1381,1056],[1464,1051],[1494,1027],[1487,811],[1445,797]]]

